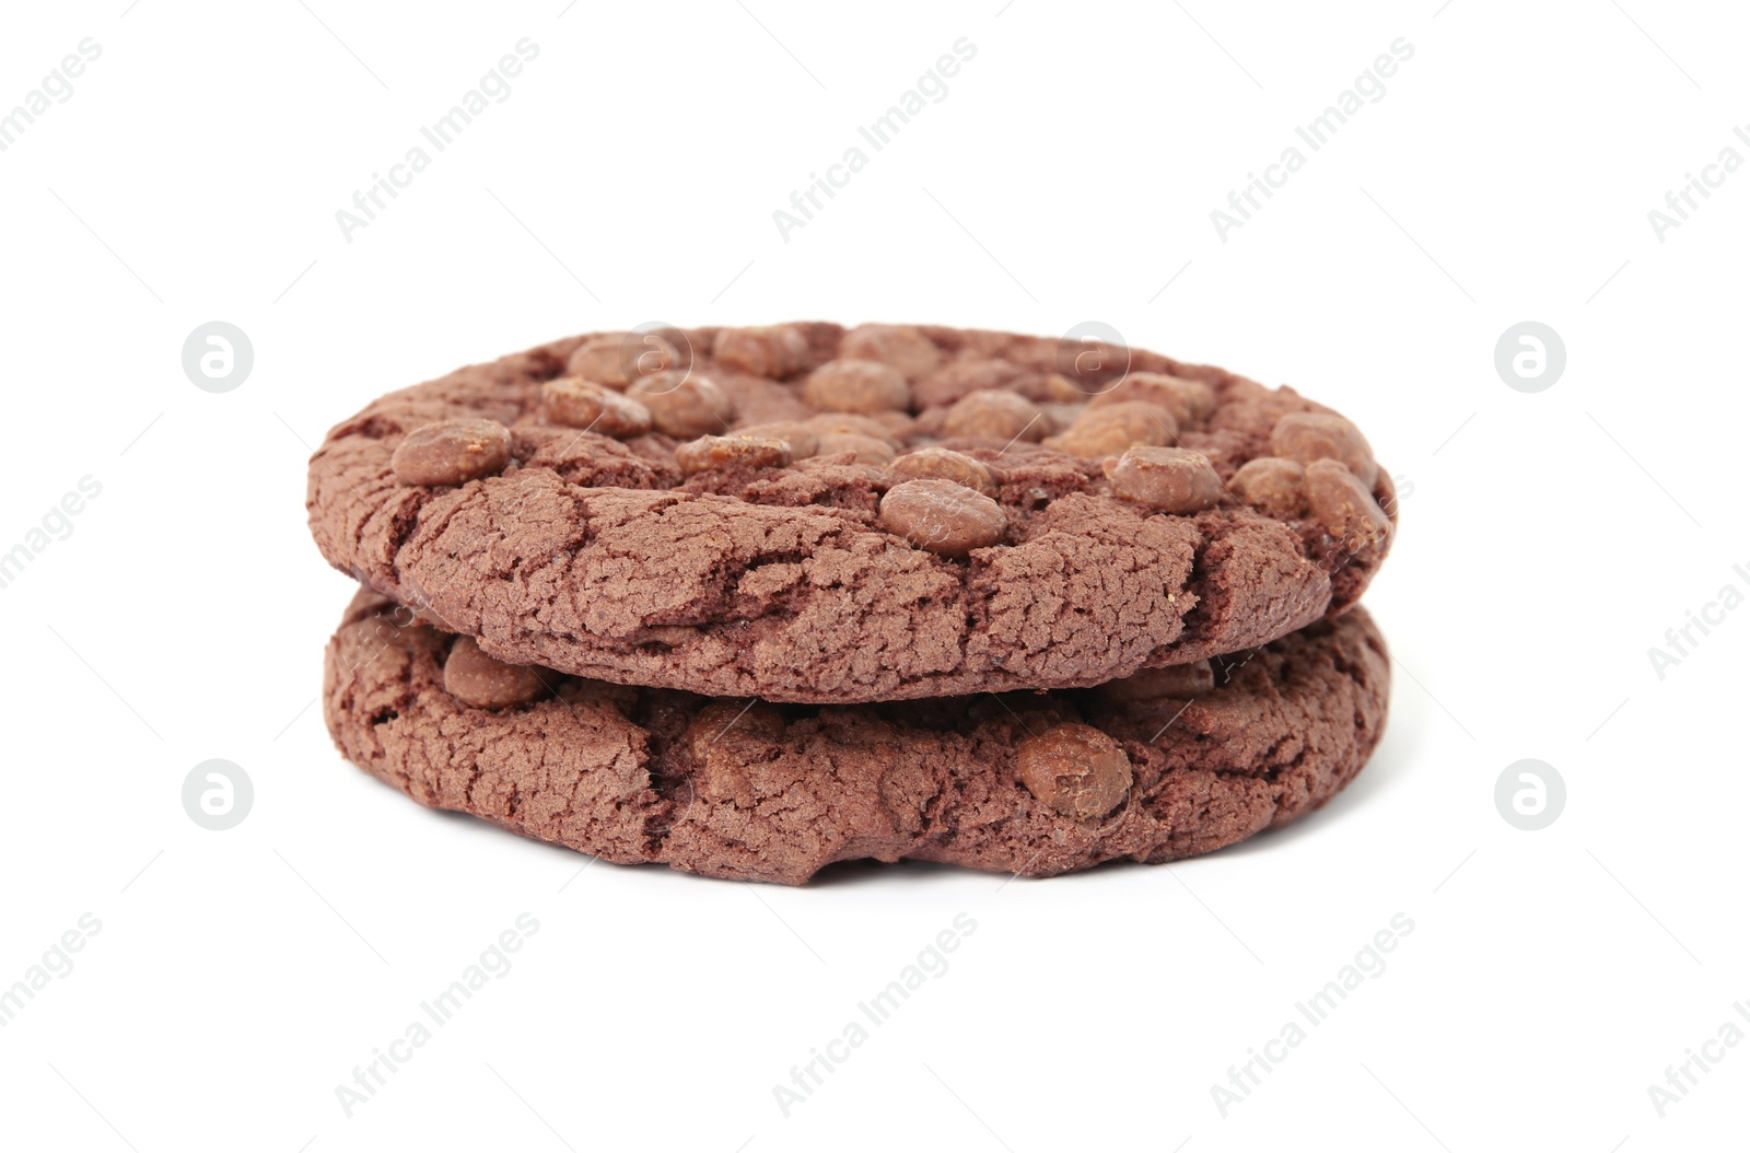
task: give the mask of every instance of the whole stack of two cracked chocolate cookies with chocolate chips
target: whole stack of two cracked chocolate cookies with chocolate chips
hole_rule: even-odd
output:
[[[614,863],[1171,861],[1360,772],[1390,476],[1290,388],[929,325],[646,327],[310,462],[341,752]]]

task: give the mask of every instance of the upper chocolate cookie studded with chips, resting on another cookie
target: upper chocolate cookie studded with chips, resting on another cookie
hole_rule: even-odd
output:
[[[578,336],[310,460],[324,556],[513,663],[775,702],[1076,688],[1340,612],[1391,544],[1342,416],[929,325]]]

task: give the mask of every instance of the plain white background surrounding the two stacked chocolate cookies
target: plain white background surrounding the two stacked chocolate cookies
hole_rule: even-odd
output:
[[[79,1150],[1741,1148],[1750,591],[1727,3],[32,5],[0,108],[102,56],[0,152],[0,1144]],[[334,213],[499,56],[539,58],[376,222]],[[772,213],[961,38],[976,56],[810,224]],[[1398,38],[1414,56],[1225,241],[1209,213]],[[1166,287],[1164,287],[1166,285]],[[304,460],[390,387],[567,332],[929,320],[1132,343],[1293,383],[1398,474],[1368,605],[1398,660],[1367,773],[1172,866],[807,889],[592,866],[422,810],[313,705],[348,581]],[[187,334],[256,366],[192,387]],[[1540,394],[1494,345],[1563,338]],[[254,780],[234,829],[191,766]],[[1547,829],[1502,770],[1566,780]],[[336,1085],[518,913],[539,933],[348,1118]],[[772,1087],[956,913],[952,968],[784,1118]],[[1211,1085],[1395,913],[1414,931],[1223,1118]]]

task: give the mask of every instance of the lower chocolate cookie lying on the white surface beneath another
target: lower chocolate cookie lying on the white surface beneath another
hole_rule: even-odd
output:
[[[1353,609],[1096,689],[770,705],[499,665],[360,591],[322,700],[340,751],[422,805],[620,864],[802,884],[864,857],[1050,877],[1230,845],[1360,772],[1390,679]]]

